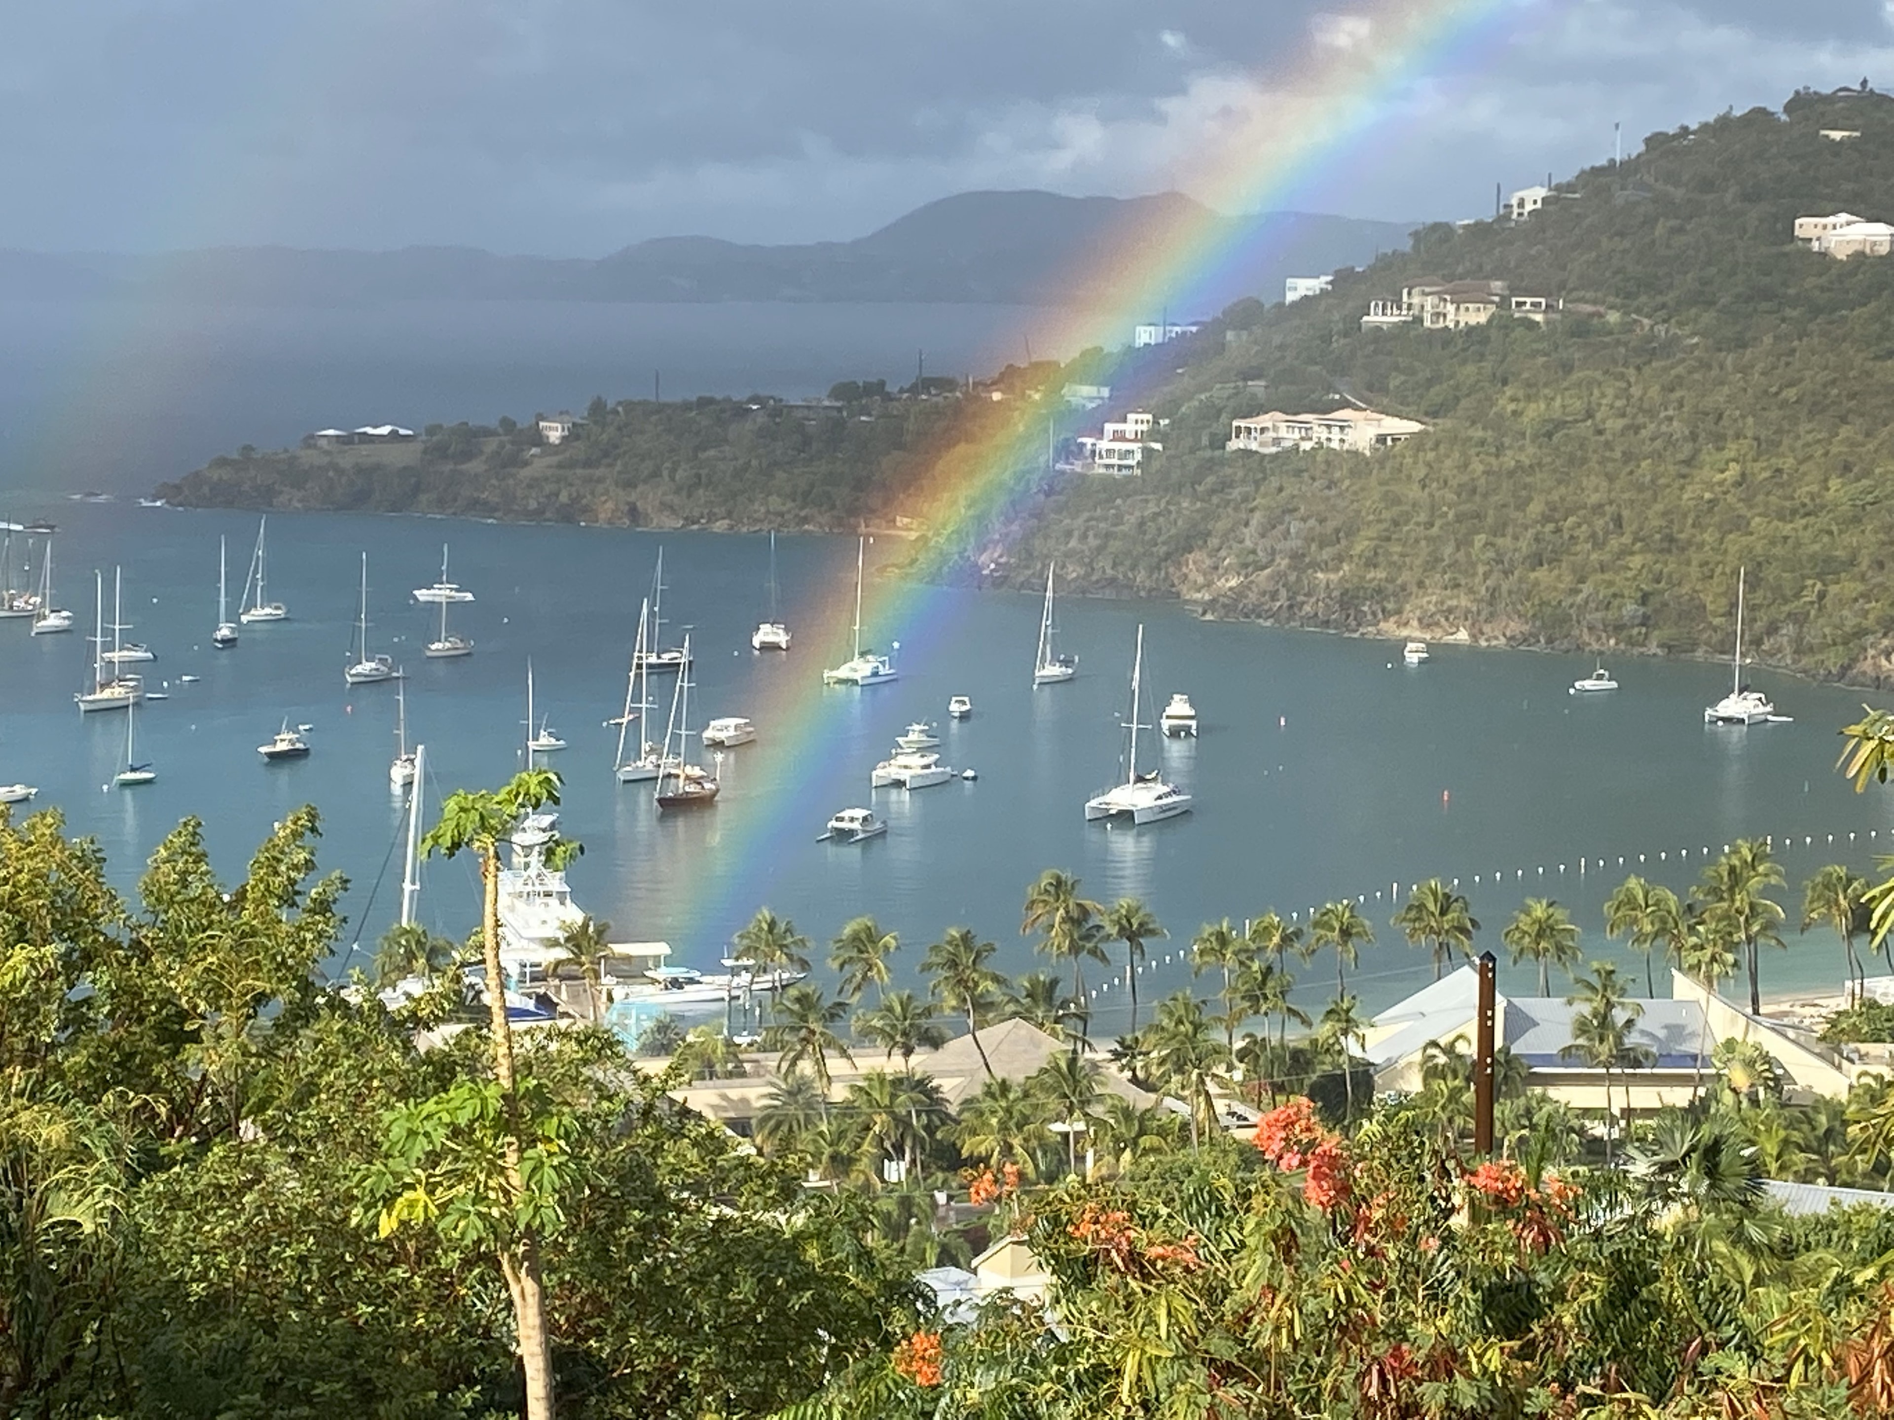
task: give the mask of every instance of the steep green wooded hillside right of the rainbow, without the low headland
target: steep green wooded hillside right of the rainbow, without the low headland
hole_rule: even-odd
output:
[[[1894,257],[1792,240],[1835,210],[1894,218],[1894,100],[1652,134],[1521,223],[1426,227],[1330,295],[1231,307],[1150,394],[1155,468],[1076,479],[958,551],[1277,623],[1725,653],[1746,564],[1760,659],[1894,682]],[[1360,328],[1430,278],[1566,312]],[[1233,417],[1349,398],[1432,428],[1373,456],[1224,453]]]

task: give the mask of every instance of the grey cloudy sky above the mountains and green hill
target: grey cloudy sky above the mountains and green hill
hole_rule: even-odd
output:
[[[0,246],[600,256],[847,239],[974,187],[1157,191],[1388,2],[21,4]],[[1803,83],[1894,87],[1894,0],[1405,4],[1472,19],[1271,204],[1472,216],[1608,157],[1614,119],[1635,146]]]

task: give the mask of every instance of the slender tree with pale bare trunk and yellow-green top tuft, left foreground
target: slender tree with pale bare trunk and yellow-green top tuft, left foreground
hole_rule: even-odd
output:
[[[500,844],[527,814],[559,803],[559,774],[528,769],[496,791],[458,790],[441,803],[439,822],[420,841],[422,856],[455,858],[472,852],[481,877],[481,956],[487,967],[487,1007],[492,1021],[492,1072],[500,1104],[500,1183],[506,1216],[521,1216],[513,1227],[494,1231],[500,1272],[513,1303],[519,1361],[527,1380],[528,1420],[553,1420],[553,1354],[545,1331],[545,1284],[540,1274],[540,1227],[521,1208],[528,1198],[521,1163],[528,1147],[527,1117],[521,1109],[519,1079],[513,1070],[513,1030],[506,1019],[506,975],[500,969]],[[564,867],[583,848],[576,839],[557,839],[545,848],[547,865]],[[445,1140],[443,1140],[445,1144]],[[540,1140],[530,1140],[540,1149]],[[384,1221],[392,1231],[400,1219]]]

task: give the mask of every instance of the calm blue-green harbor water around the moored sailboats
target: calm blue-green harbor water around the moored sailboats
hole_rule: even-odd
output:
[[[1436,646],[1426,666],[1409,670],[1383,642],[1206,623],[1165,604],[1068,600],[1063,644],[1080,657],[1080,678],[1034,691],[1036,598],[930,591],[896,595],[909,608],[903,625],[869,627],[881,642],[902,636],[896,683],[822,691],[820,668],[847,653],[852,541],[780,540],[782,610],[797,642],[788,655],[756,655],[748,632],[763,610],[763,538],[352,515],[271,519],[271,595],[294,619],[248,627],[235,651],[216,653],[218,534],[229,536],[235,596],[252,517],[68,502],[19,515],[61,524],[59,595],[85,627],[93,568],[110,595],[112,568],[123,564],[131,636],[159,655],[144,666],[148,685],[169,680],[170,699],[138,716],[140,759],[157,765],[159,782],[104,790],[125,721],[81,718],[72,704],[89,672],[83,627],[28,638],[27,623],[0,623],[0,782],[38,784],[36,807],[57,807],[72,831],[97,837],[127,888],[184,814],[205,820],[222,871],[237,877],[273,820],[314,803],[322,863],[347,873],[347,911],[366,943],[396,914],[402,807],[386,782],[394,685],[348,689],[341,676],[362,551],[371,649],[407,668],[430,803],[519,767],[530,657],[540,710],[570,740],[547,763],[566,778],[563,824],[587,846],[574,892],[617,939],[670,941],[682,964],[712,966],[767,903],[818,945],[873,913],[907,943],[902,975],[962,922],[1000,943],[1006,969],[1032,969],[1019,903],[1028,880],[1057,865],[1089,896],[1146,897],[1176,933],[1155,949],[1146,998],[1188,981],[1163,956],[1205,920],[1241,922],[1267,907],[1307,918],[1311,905],[1360,896],[1377,945],[1352,979],[1364,1003],[1381,1007],[1428,979],[1424,958],[1388,926],[1396,882],[1460,879],[1485,924],[1481,943],[1502,958],[1498,930],[1519,901],[1557,897],[1581,924],[1585,952],[1600,956],[1612,952],[1600,903],[1629,871],[1688,888],[1703,850],[1773,835],[1794,913],[1820,863],[1867,871],[1875,852],[1894,850],[1888,795],[1854,795],[1833,772],[1835,727],[1862,693],[1767,672],[1754,682],[1796,723],[1712,731],[1701,706],[1727,687],[1727,668],[1714,665],[1612,663],[1621,691],[1572,697],[1566,685],[1591,661]],[[434,612],[409,589],[434,579],[443,540],[456,581],[479,596],[455,608],[455,629],[477,651],[430,663],[420,642]],[[686,816],[661,816],[648,786],[614,780],[616,729],[604,723],[625,695],[659,541],[667,617],[691,627],[697,649],[701,714],[748,714],[759,733],[725,757],[720,803]],[[1188,691],[1203,718],[1197,742],[1150,737],[1142,759],[1161,759],[1197,805],[1169,824],[1106,829],[1085,824],[1081,805],[1123,772],[1117,723],[1140,621],[1150,691],[1159,704]],[[203,680],[184,685],[180,674]],[[669,683],[657,685],[669,697]],[[974,699],[972,719],[947,719],[955,693]],[[265,767],[256,746],[284,718],[314,725],[314,754]],[[943,757],[979,780],[871,793],[867,771],[911,719],[939,721]],[[858,803],[890,820],[884,839],[814,841],[830,812]],[[472,869],[430,865],[424,918],[458,935],[474,911]],[[1790,932],[1790,950],[1765,958],[1765,988],[1826,985],[1835,956],[1824,933]],[[1331,967],[1311,966],[1303,979],[1318,1005]],[[1525,973],[1511,979],[1523,985]],[[1100,1007],[1110,1028],[1119,998]]]

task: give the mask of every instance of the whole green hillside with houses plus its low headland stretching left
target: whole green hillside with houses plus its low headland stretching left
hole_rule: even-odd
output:
[[[434,430],[250,451],[163,492],[839,530],[1045,430],[1000,523],[911,528],[917,576],[1030,585],[1057,559],[1076,591],[1275,625],[1727,655],[1746,566],[1746,651],[1886,685],[1890,218],[1894,102],[1799,93],[1155,348],[813,405],[600,399],[570,447]]]

